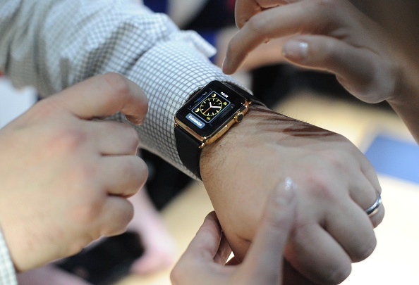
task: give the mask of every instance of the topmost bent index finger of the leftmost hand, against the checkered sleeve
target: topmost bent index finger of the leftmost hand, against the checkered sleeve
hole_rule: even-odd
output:
[[[136,125],[144,121],[148,108],[144,91],[117,73],[80,82],[62,91],[61,100],[80,118],[103,118],[121,111]]]

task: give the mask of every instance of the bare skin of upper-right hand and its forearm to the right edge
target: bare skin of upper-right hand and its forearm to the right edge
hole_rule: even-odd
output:
[[[278,50],[286,61],[334,73],[362,101],[387,101],[419,142],[419,65],[409,43],[418,37],[417,17],[409,10],[417,4],[367,2],[370,10],[380,11],[381,17],[375,16],[382,25],[346,0],[238,0],[241,30],[229,43],[223,70],[233,73],[257,46],[286,39]],[[401,22],[411,28],[391,25],[391,11],[406,15]]]

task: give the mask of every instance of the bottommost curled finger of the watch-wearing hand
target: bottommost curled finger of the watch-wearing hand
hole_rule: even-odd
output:
[[[351,258],[319,224],[294,231],[285,255],[300,274],[315,284],[340,284],[351,273]]]

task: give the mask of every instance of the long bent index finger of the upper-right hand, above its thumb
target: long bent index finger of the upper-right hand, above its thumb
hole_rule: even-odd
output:
[[[223,71],[235,72],[250,51],[269,39],[293,34],[327,34],[334,29],[340,18],[333,12],[340,10],[329,9],[329,13],[325,13],[326,8],[317,2],[298,1],[254,15],[231,39]]]

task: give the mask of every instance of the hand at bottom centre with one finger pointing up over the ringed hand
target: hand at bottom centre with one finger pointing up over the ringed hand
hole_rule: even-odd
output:
[[[296,215],[290,179],[269,196],[252,246],[240,265],[226,265],[231,249],[214,212],[209,213],[171,272],[174,285],[282,284],[284,247]]]

